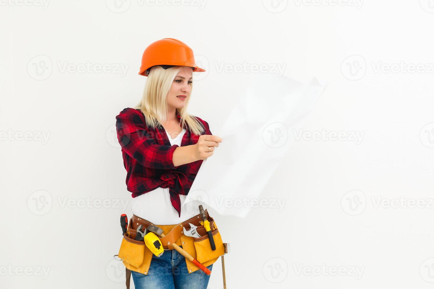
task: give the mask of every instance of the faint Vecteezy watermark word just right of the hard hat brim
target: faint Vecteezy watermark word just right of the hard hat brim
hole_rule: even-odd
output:
[[[283,75],[286,64],[281,63],[226,63],[226,62],[214,62],[216,71],[218,73],[274,73],[278,77]]]

